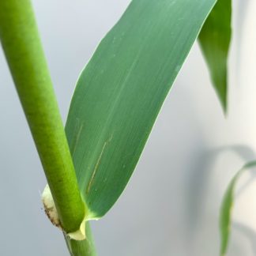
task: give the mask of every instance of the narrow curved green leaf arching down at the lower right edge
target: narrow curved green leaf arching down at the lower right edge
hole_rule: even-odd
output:
[[[242,175],[243,171],[248,168],[253,168],[256,166],[256,161],[249,162],[243,166],[242,169],[238,171],[235,177],[232,179],[231,183],[228,185],[228,189],[224,194],[224,198],[220,207],[220,255],[224,256],[228,250],[228,240],[230,235],[231,218],[232,218],[232,206],[234,202],[234,191],[235,185]]]

